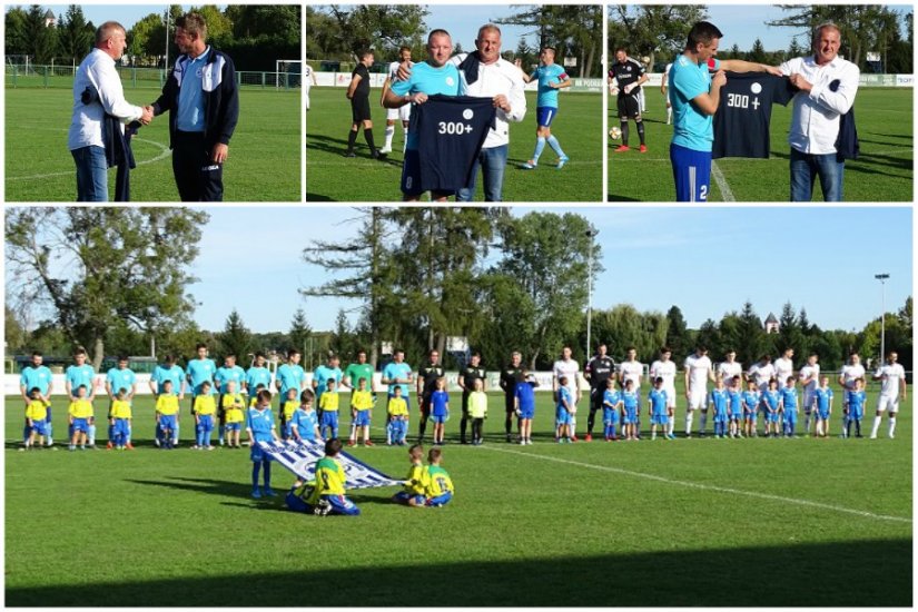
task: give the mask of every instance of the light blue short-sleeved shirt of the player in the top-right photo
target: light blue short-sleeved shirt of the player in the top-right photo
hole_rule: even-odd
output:
[[[713,117],[704,115],[692,103],[702,93],[711,91],[711,70],[720,61],[711,58],[699,66],[680,55],[670,69],[670,101],[672,102],[672,144],[695,151],[710,151],[714,141]]]

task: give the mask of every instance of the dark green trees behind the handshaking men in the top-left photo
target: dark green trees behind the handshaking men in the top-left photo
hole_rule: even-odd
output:
[[[237,70],[274,70],[275,60],[300,56],[299,4],[228,4],[223,10],[206,4],[191,10],[204,16],[208,42],[229,53]],[[82,7],[70,4],[63,13],[55,16],[56,27],[47,27],[47,12],[40,4],[7,10],[7,56],[30,56],[36,65],[79,63],[92,49],[96,28],[101,23],[87,21]],[[167,49],[168,57],[175,58],[175,21],[185,13],[180,4],[169,6],[168,39],[166,11],[138,20],[127,31],[125,63],[162,68]]]

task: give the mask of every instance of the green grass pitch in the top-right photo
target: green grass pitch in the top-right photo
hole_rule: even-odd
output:
[[[621,140],[606,137],[609,201],[673,201],[670,166],[672,126],[659,87],[645,91],[646,154],[638,152],[638,132],[630,121],[632,150],[616,154]],[[861,88],[855,105],[860,157],[845,164],[846,201],[910,201],[912,197],[912,90]],[[788,201],[790,146],[787,135],[792,103],[771,109],[771,157],[714,160],[710,201]],[[615,98],[610,98],[609,126],[618,126]],[[819,185],[813,200],[822,200]]]

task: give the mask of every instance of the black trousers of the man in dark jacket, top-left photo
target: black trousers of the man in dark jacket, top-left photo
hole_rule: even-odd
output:
[[[181,201],[223,201],[224,166],[210,160],[204,132],[176,130],[172,174]]]

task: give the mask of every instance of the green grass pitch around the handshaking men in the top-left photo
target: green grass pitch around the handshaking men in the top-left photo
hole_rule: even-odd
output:
[[[73,158],[67,150],[72,93],[69,89],[7,88],[7,201],[73,201]],[[129,102],[152,102],[159,90],[126,89]],[[298,201],[302,198],[300,93],[239,92],[239,122],[224,168],[227,201]],[[131,171],[135,201],[178,201],[169,149],[169,122],[162,115],[131,140],[137,168]],[[109,198],[115,169],[109,170]]]

